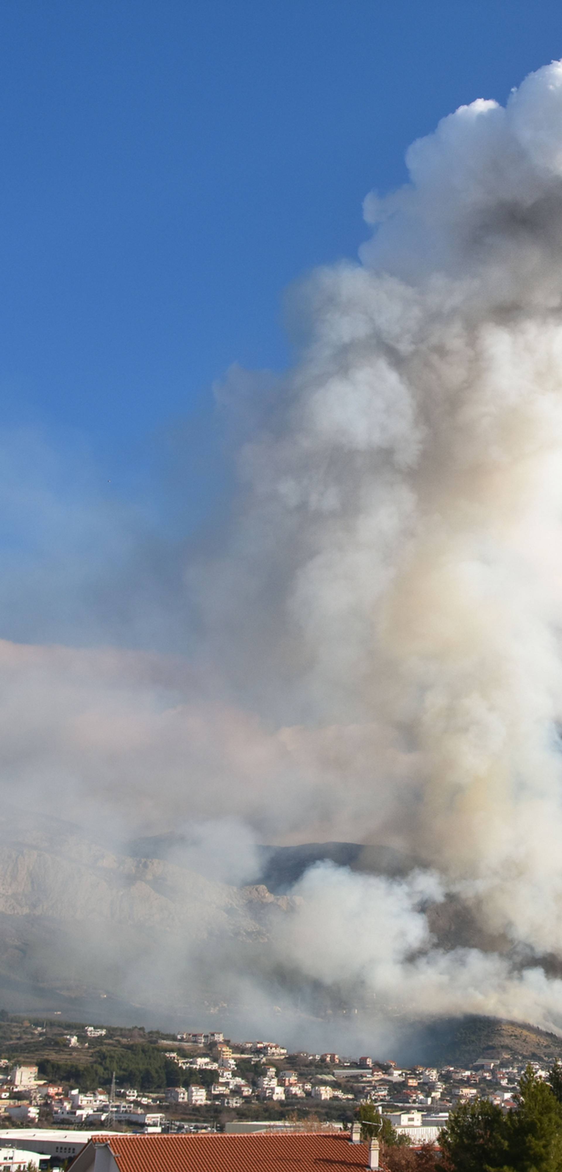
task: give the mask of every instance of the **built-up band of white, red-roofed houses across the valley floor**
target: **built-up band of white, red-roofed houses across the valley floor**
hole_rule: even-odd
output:
[[[90,1037],[104,1033],[95,1027],[85,1030]],[[71,1045],[74,1038],[67,1041]],[[55,1085],[39,1078],[37,1067],[8,1069],[7,1061],[0,1059],[0,1115],[5,1125],[20,1127],[36,1127],[42,1110],[42,1120],[54,1127],[158,1133],[214,1127],[219,1118],[228,1127],[228,1117],[238,1130],[255,1129],[260,1105],[266,1104],[269,1120],[272,1105],[279,1106],[281,1125],[283,1118],[295,1116],[295,1109],[301,1118],[311,1112],[324,1119],[351,1119],[357,1105],[372,1103],[399,1133],[424,1143],[437,1138],[459,1102],[484,1096],[509,1109],[526,1065],[522,1059],[481,1058],[467,1068],[405,1069],[370,1056],[308,1051],[289,1056],[277,1042],[233,1044],[220,1031],[178,1034],[165,1055],[177,1068],[176,1085],[158,1093],[118,1088],[111,1096],[107,1090]],[[533,1065],[539,1075],[547,1075],[548,1063]]]

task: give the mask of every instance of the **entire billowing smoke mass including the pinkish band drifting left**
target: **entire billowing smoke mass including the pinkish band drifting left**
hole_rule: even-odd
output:
[[[365,847],[285,904],[246,887],[261,934],[222,917],[204,949],[174,920],[121,976],[142,1001],[156,955],[192,984],[211,956],[303,1043],[321,1002],[378,1037],[389,1013],[562,1029],[562,63],[406,158],[362,264],[293,292],[294,369],[217,388],[238,491],[184,561],[190,666],[5,645],[0,668],[7,782],[105,841],[173,830],[167,866],[222,892],[260,843]],[[400,875],[368,873],[379,844]]]

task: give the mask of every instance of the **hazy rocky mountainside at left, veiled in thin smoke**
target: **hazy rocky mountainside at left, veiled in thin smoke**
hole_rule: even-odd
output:
[[[57,818],[0,825],[0,1004],[75,1020],[212,1013],[289,898],[107,849]]]

